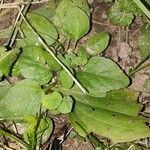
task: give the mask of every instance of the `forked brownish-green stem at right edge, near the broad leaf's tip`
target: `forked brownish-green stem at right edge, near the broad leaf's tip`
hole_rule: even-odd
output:
[[[148,59],[150,58],[150,55],[144,59],[142,59],[137,65],[136,67],[131,71],[129,72],[129,76],[132,76],[133,74],[135,74],[136,72],[150,66],[150,63],[147,63],[145,65],[143,65]]]

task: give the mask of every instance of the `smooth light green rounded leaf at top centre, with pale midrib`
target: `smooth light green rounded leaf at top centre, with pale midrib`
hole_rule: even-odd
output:
[[[90,28],[89,17],[79,7],[72,7],[66,14],[59,16],[60,24],[63,32],[68,38],[78,40],[83,37]]]

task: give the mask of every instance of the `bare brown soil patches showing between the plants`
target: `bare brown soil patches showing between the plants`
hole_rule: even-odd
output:
[[[12,0],[7,0],[7,3],[13,2]],[[6,3],[5,2],[5,3]],[[39,7],[39,5],[37,5]],[[137,46],[137,38],[140,33],[140,29],[143,25],[141,17],[136,18],[134,23],[129,27],[118,27],[111,24],[108,19],[107,12],[111,7],[111,4],[106,4],[99,1],[91,1],[91,11],[92,11],[92,29],[88,36],[94,34],[95,32],[106,31],[111,34],[110,45],[105,52],[105,57],[111,58],[118,62],[119,65],[126,71],[126,73],[135,66],[140,61],[140,54]],[[34,6],[34,9],[36,6]],[[17,11],[15,9],[3,9],[0,10],[0,31],[8,28],[15,22]],[[86,40],[82,39],[81,43]],[[6,42],[6,39],[0,38],[1,45]],[[150,68],[146,68],[132,77],[133,82],[131,89],[142,92],[141,102],[149,103],[150,94],[143,92],[143,84],[150,77]],[[150,112],[147,107],[146,111]],[[55,121],[55,131],[52,139],[62,138],[67,129],[67,119],[63,115],[53,116]],[[50,140],[51,143],[53,140]],[[7,143],[7,139],[5,142]],[[8,143],[7,143],[8,144]],[[15,147],[14,149],[20,149],[19,146],[10,142],[9,146]],[[45,145],[45,147],[47,147]],[[1,144],[0,144],[1,147]],[[5,149],[5,148],[0,148]],[[6,148],[7,149],[7,148]],[[92,145],[88,141],[82,141],[75,138],[69,138],[63,142],[63,150],[93,150]]]

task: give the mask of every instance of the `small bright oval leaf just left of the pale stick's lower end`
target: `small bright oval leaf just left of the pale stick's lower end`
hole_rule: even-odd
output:
[[[61,82],[61,84],[65,87],[65,88],[71,88],[73,85],[73,80],[72,78],[68,75],[68,73],[65,70],[62,70],[59,74],[59,80]]]

